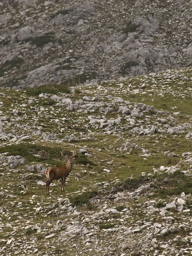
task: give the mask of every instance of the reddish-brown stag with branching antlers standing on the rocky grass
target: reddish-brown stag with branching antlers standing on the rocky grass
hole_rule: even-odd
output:
[[[61,191],[62,191],[62,187],[63,187],[63,191],[64,191],[65,179],[73,169],[73,160],[74,160],[74,157],[76,154],[76,151],[74,151],[74,150],[72,150],[70,152],[73,153],[72,156],[67,156],[67,155],[64,156],[63,151],[60,152],[62,154],[62,156],[64,157],[64,159],[67,161],[66,165],[62,165],[59,167],[53,167],[53,168],[45,171],[45,175],[47,177],[46,194],[49,194],[50,183],[53,180],[58,180],[58,179],[61,179]]]

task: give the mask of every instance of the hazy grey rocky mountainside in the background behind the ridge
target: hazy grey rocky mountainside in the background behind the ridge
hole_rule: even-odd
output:
[[[1,0],[0,86],[190,66],[190,20],[190,0]]]

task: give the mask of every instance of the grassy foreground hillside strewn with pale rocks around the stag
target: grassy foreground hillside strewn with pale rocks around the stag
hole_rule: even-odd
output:
[[[1,88],[0,255],[190,255],[191,70]]]

